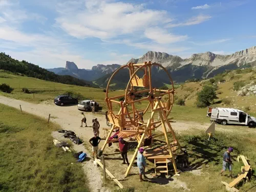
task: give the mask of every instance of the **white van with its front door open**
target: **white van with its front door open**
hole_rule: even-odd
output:
[[[256,126],[256,118],[249,116],[247,113],[231,108],[208,108],[207,117],[211,121],[226,124],[240,124]]]

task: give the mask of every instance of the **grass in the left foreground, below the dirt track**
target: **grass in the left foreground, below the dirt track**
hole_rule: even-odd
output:
[[[89,191],[81,165],[53,145],[59,128],[0,104],[0,191]]]

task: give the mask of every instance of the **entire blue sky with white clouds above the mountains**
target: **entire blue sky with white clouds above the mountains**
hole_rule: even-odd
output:
[[[0,0],[0,52],[40,67],[123,65],[147,51],[182,58],[256,46],[256,1]]]

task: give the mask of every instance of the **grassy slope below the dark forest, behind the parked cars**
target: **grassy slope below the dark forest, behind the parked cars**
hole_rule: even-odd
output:
[[[105,106],[105,93],[101,89],[73,86],[69,84],[55,83],[51,81],[44,81],[32,77],[17,76],[0,71],[0,84],[7,83],[14,88],[11,94],[0,92],[1,95],[12,97],[14,99],[25,100],[29,102],[39,103],[63,94],[67,91],[73,91],[82,94],[86,98],[95,99],[101,105]],[[33,94],[26,94],[22,92],[22,88],[28,88]],[[118,91],[111,92],[110,95],[116,95]]]

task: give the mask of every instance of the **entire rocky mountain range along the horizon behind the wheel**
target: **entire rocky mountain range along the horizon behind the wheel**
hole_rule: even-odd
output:
[[[256,46],[230,55],[205,52],[193,54],[190,58],[186,59],[167,53],[148,51],[141,58],[132,58],[127,63],[143,63],[145,61],[160,63],[171,74],[174,81],[184,82],[188,79],[210,78],[225,70],[256,66]],[[93,81],[98,86],[105,87],[111,74],[119,67],[120,65],[118,64],[106,66],[97,65],[91,70],[86,70],[78,69],[74,62],[67,61],[66,68],[48,70],[58,75],[71,75],[80,79]],[[155,77],[155,85],[161,86],[163,83],[168,84],[163,70],[155,68],[153,69],[152,75]],[[127,80],[129,80],[129,73],[127,73],[127,70],[121,70],[119,75],[113,80],[112,84],[114,87],[118,86],[118,88],[123,88],[125,87]]]

